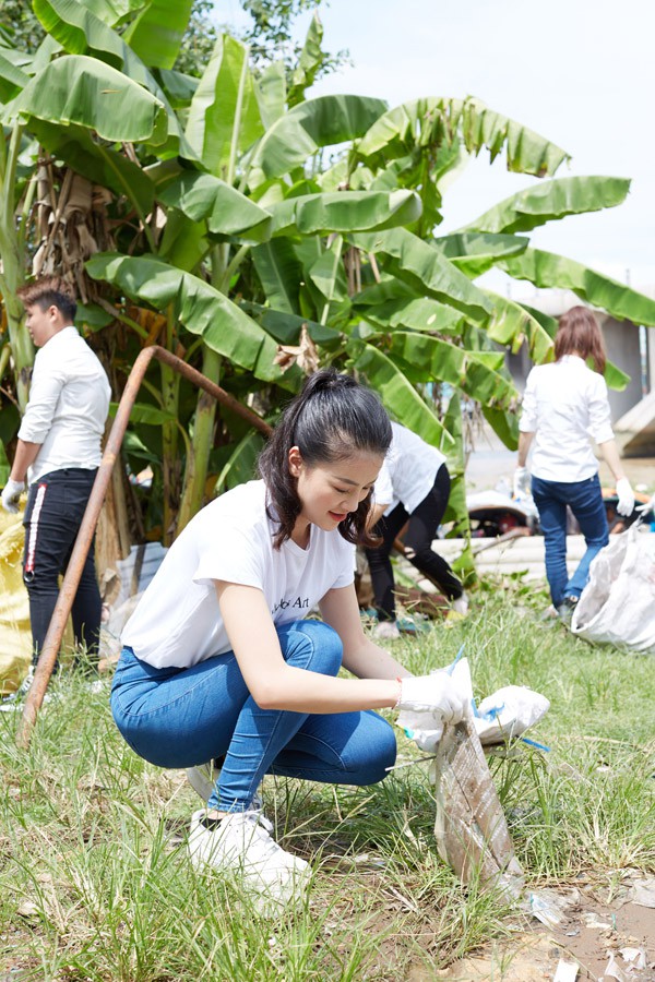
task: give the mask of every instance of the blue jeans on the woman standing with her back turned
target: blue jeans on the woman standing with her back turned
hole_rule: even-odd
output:
[[[555,607],[559,607],[564,597],[580,597],[590,578],[592,560],[609,542],[600,481],[597,474],[584,481],[545,481],[533,476],[532,491],[545,538],[550,596]],[[587,546],[570,579],[567,571],[567,505],[575,515]]]

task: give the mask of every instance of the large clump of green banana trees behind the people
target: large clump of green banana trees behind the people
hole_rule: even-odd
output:
[[[389,110],[367,97],[307,98],[317,23],[287,93],[284,67],[254,74],[248,50],[228,36],[200,80],[171,71],[183,17],[171,35],[159,31],[163,0],[128,4],[120,16],[104,0],[34,7],[48,38],[23,76],[0,59],[4,122],[32,140],[33,163],[40,145],[109,194],[114,248],[78,271],[88,285],[87,323],[110,311],[123,364],[140,345],[164,343],[271,417],[302,379],[289,352],[313,346],[321,362],[360,373],[396,418],[450,453],[458,475],[452,517],[465,530],[456,399],[443,417],[426,385],[479,402],[513,444],[517,394],[503,349],[525,343],[546,360],[555,325],[475,280],[492,266],[563,277],[562,266],[533,254],[525,232],[617,205],[627,182],[543,180],[565,152],[475,99]],[[148,32],[157,34],[152,48]],[[437,237],[445,177],[485,148],[537,184]],[[645,298],[623,290],[619,304],[617,285],[604,290],[603,277],[592,284],[567,270],[591,302],[600,298],[610,312],[638,304],[639,320],[652,323]],[[620,374],[612,381],[621,384]],[[243,475],[253,440],[222,418],[221,442],[234,453],[212,451],[215,408],[166,372],[146,382],[142,419],[156,419],[159,435],[138,424],[131,453],[164,475],[163,525],[172,534],[201,504],[209,469],[227,481]]]

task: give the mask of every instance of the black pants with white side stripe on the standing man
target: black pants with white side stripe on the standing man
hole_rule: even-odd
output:
[[[29,488],[23,518],[23,579],[29,595],[34,664],[57,603],[58,577],[66,573],[95,476],[95,470],[69,467],[44,475]],[[92,543],[72,608],[75,642],[86,646],[92,659],[98,655],[102,608]]]

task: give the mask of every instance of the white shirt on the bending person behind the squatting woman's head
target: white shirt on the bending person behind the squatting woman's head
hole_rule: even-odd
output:
[[[378,475],[374,500],[389,504],[389,515],[401,502],[410,515],[431,490],[444,455],[400,423],[392,422],[393,439]]]

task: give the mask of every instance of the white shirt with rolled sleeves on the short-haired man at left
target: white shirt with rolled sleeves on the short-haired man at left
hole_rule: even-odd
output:
[[[63,327],[38,349],[19,430],[21,440],[41,444],[29,483],[63,467],[99,466],[110,395],[105,369],[76,327]]]

